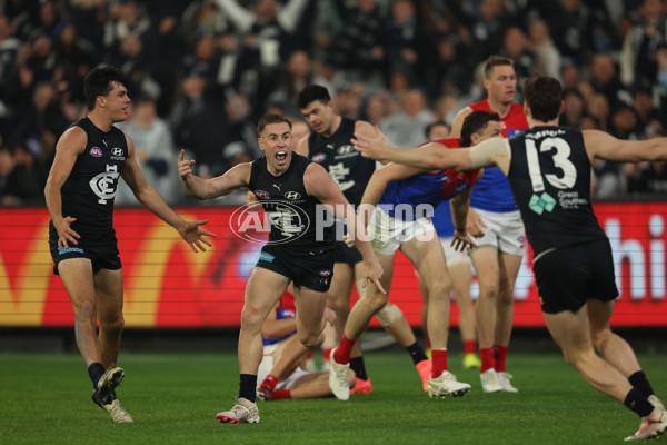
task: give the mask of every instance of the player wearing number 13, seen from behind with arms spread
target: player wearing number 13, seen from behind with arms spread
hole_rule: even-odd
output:
[[[563,89],[550,77],[531,77],[524,93],[530,130],[510,142],[485,141],[470,151],[445,154],[421,149],[411,157],[392,149],[377,158],[426,168],[499,167],[535,249],[534,271],[549,333],[590,386],[641,417],[639,429],[626,441],[658,437],[667,431],[667,412],[633,348],[609,327],[618,290],[589,186],[594,158],[665,160],[667,139],[619,140],[603,131],[559,128]]]

